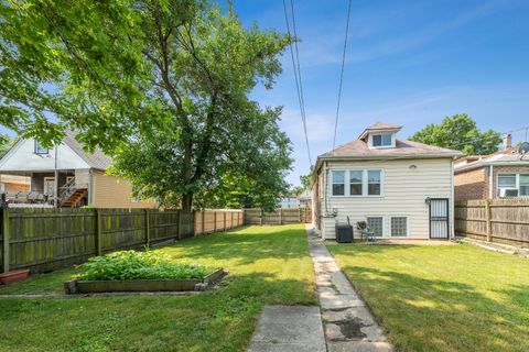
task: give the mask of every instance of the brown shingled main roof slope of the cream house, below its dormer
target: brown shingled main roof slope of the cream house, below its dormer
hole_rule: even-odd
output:
[[[412,141],[396,140],[396,147],[369,148],[367,143],[356,140],[338,146],[319,157],[350,157],[350,158],[391,158],[391,157],[454,157],[461,152],[440,146],[427,145]]]

